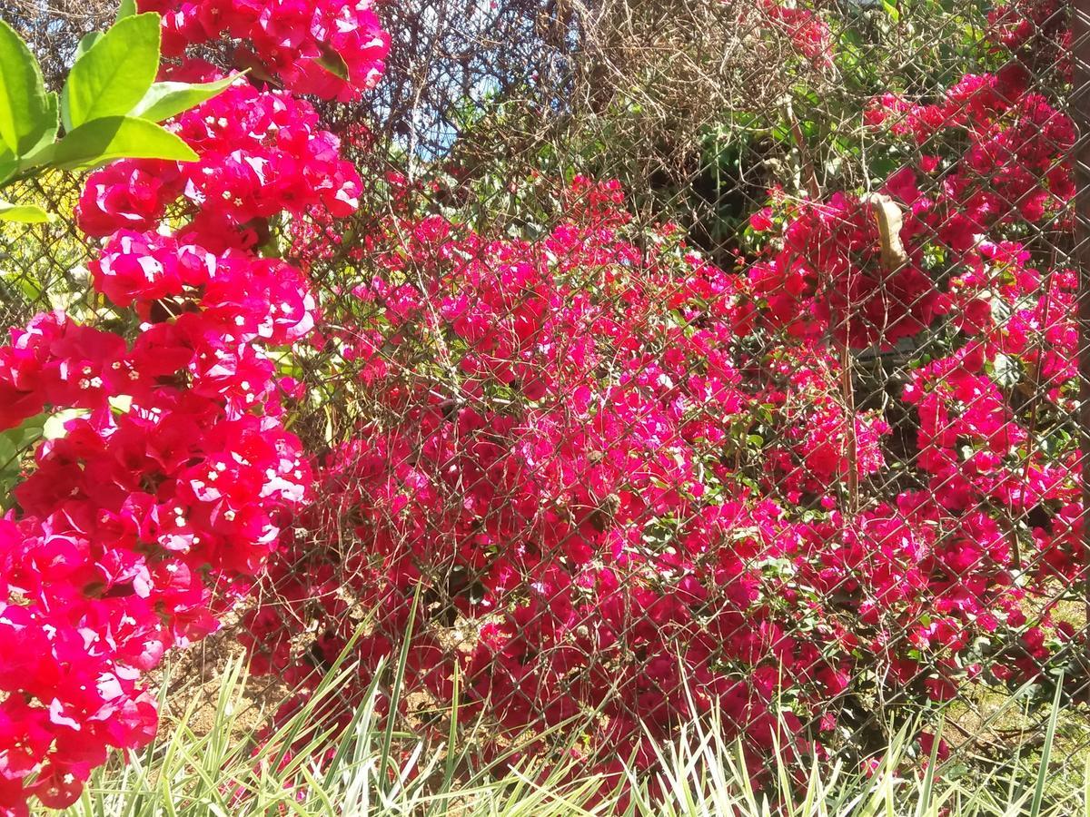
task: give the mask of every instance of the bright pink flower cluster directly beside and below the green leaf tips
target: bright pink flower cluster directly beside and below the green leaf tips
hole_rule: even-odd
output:
[[[186,68],[178,73],[187,81],[215,76],[207,66]],[[316,208],[342,217],[359,206],[360,175],[340,158],[339,141],[320,129],[310,103],[290,94],[237,81],[181,114],[174,130],[199,159],[123,160],[96,172],[76,208],[81,229],[147,231],[170,208],[190,217],[180,236],[197,236],[217,252],[249,249],[268,239],[268,219],[280,212]]]

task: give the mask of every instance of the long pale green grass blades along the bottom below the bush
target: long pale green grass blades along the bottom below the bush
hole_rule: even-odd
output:
[[[134,753],[129,764],[117,758],[97,770],[81,800],[62,814],[1090,817],[1090,768],[1067,775],[1064,786],[1055,784],[1051,760],[1057,758],[1050,753],[1058,745],[1053,741],[1058,708],[1047,723],[1041,756],[1032,763],[1014,759],[1002,769],[955,779],[906,773],[912,764],[901,734],[869,776],[836,763],[814,763],[804,773],[795,769],[792,778],[787,764],[774,764],[766,788],[780,793],[777,806],[767,792],[754,789],[740,746],[723,736],[725,730],[714,719],[691,723],[676,742],[661,746],[657,775],[629,770],[618,783],[588,775],[574,753],[550,768],[532,760],[509,765],[504,760],[511,758],[486,761],[461,749],[455,730],[446,741],[393,730],[380,715],[380,703],[392,696],[401,673],[398,667],[388,670],[390,688],[376,681],[346,728],[323,727],[318,714],[351,667],[328,675],[294,717],[258,741],[252,729],[238,725],[245,672],[241,662],[229,662],[211,716],[201,719],[199,729],[193,718],[199,698],[173,714],[170,702],[164,702],[175,720],[171,733]],[[571,731],[578,734],[579,729]]]

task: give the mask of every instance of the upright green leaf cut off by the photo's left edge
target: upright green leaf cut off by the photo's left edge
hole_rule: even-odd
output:
[[[22,156],[49,126],[46,86],[31,49],[0,20],[0,153]]]

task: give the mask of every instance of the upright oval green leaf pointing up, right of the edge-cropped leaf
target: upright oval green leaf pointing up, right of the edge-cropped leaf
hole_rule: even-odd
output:
[[[114,23],[72,65],[61,92],[65,130],[129,113],[159,70],[159,15],[136,14]]]

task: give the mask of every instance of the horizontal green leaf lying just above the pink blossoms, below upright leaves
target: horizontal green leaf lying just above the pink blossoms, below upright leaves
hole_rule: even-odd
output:
[[[181,138],[146,119],[107,117],[80,125],[44,158],[61,170],[86,170],[114,159],[194,161],[197,155]]]

